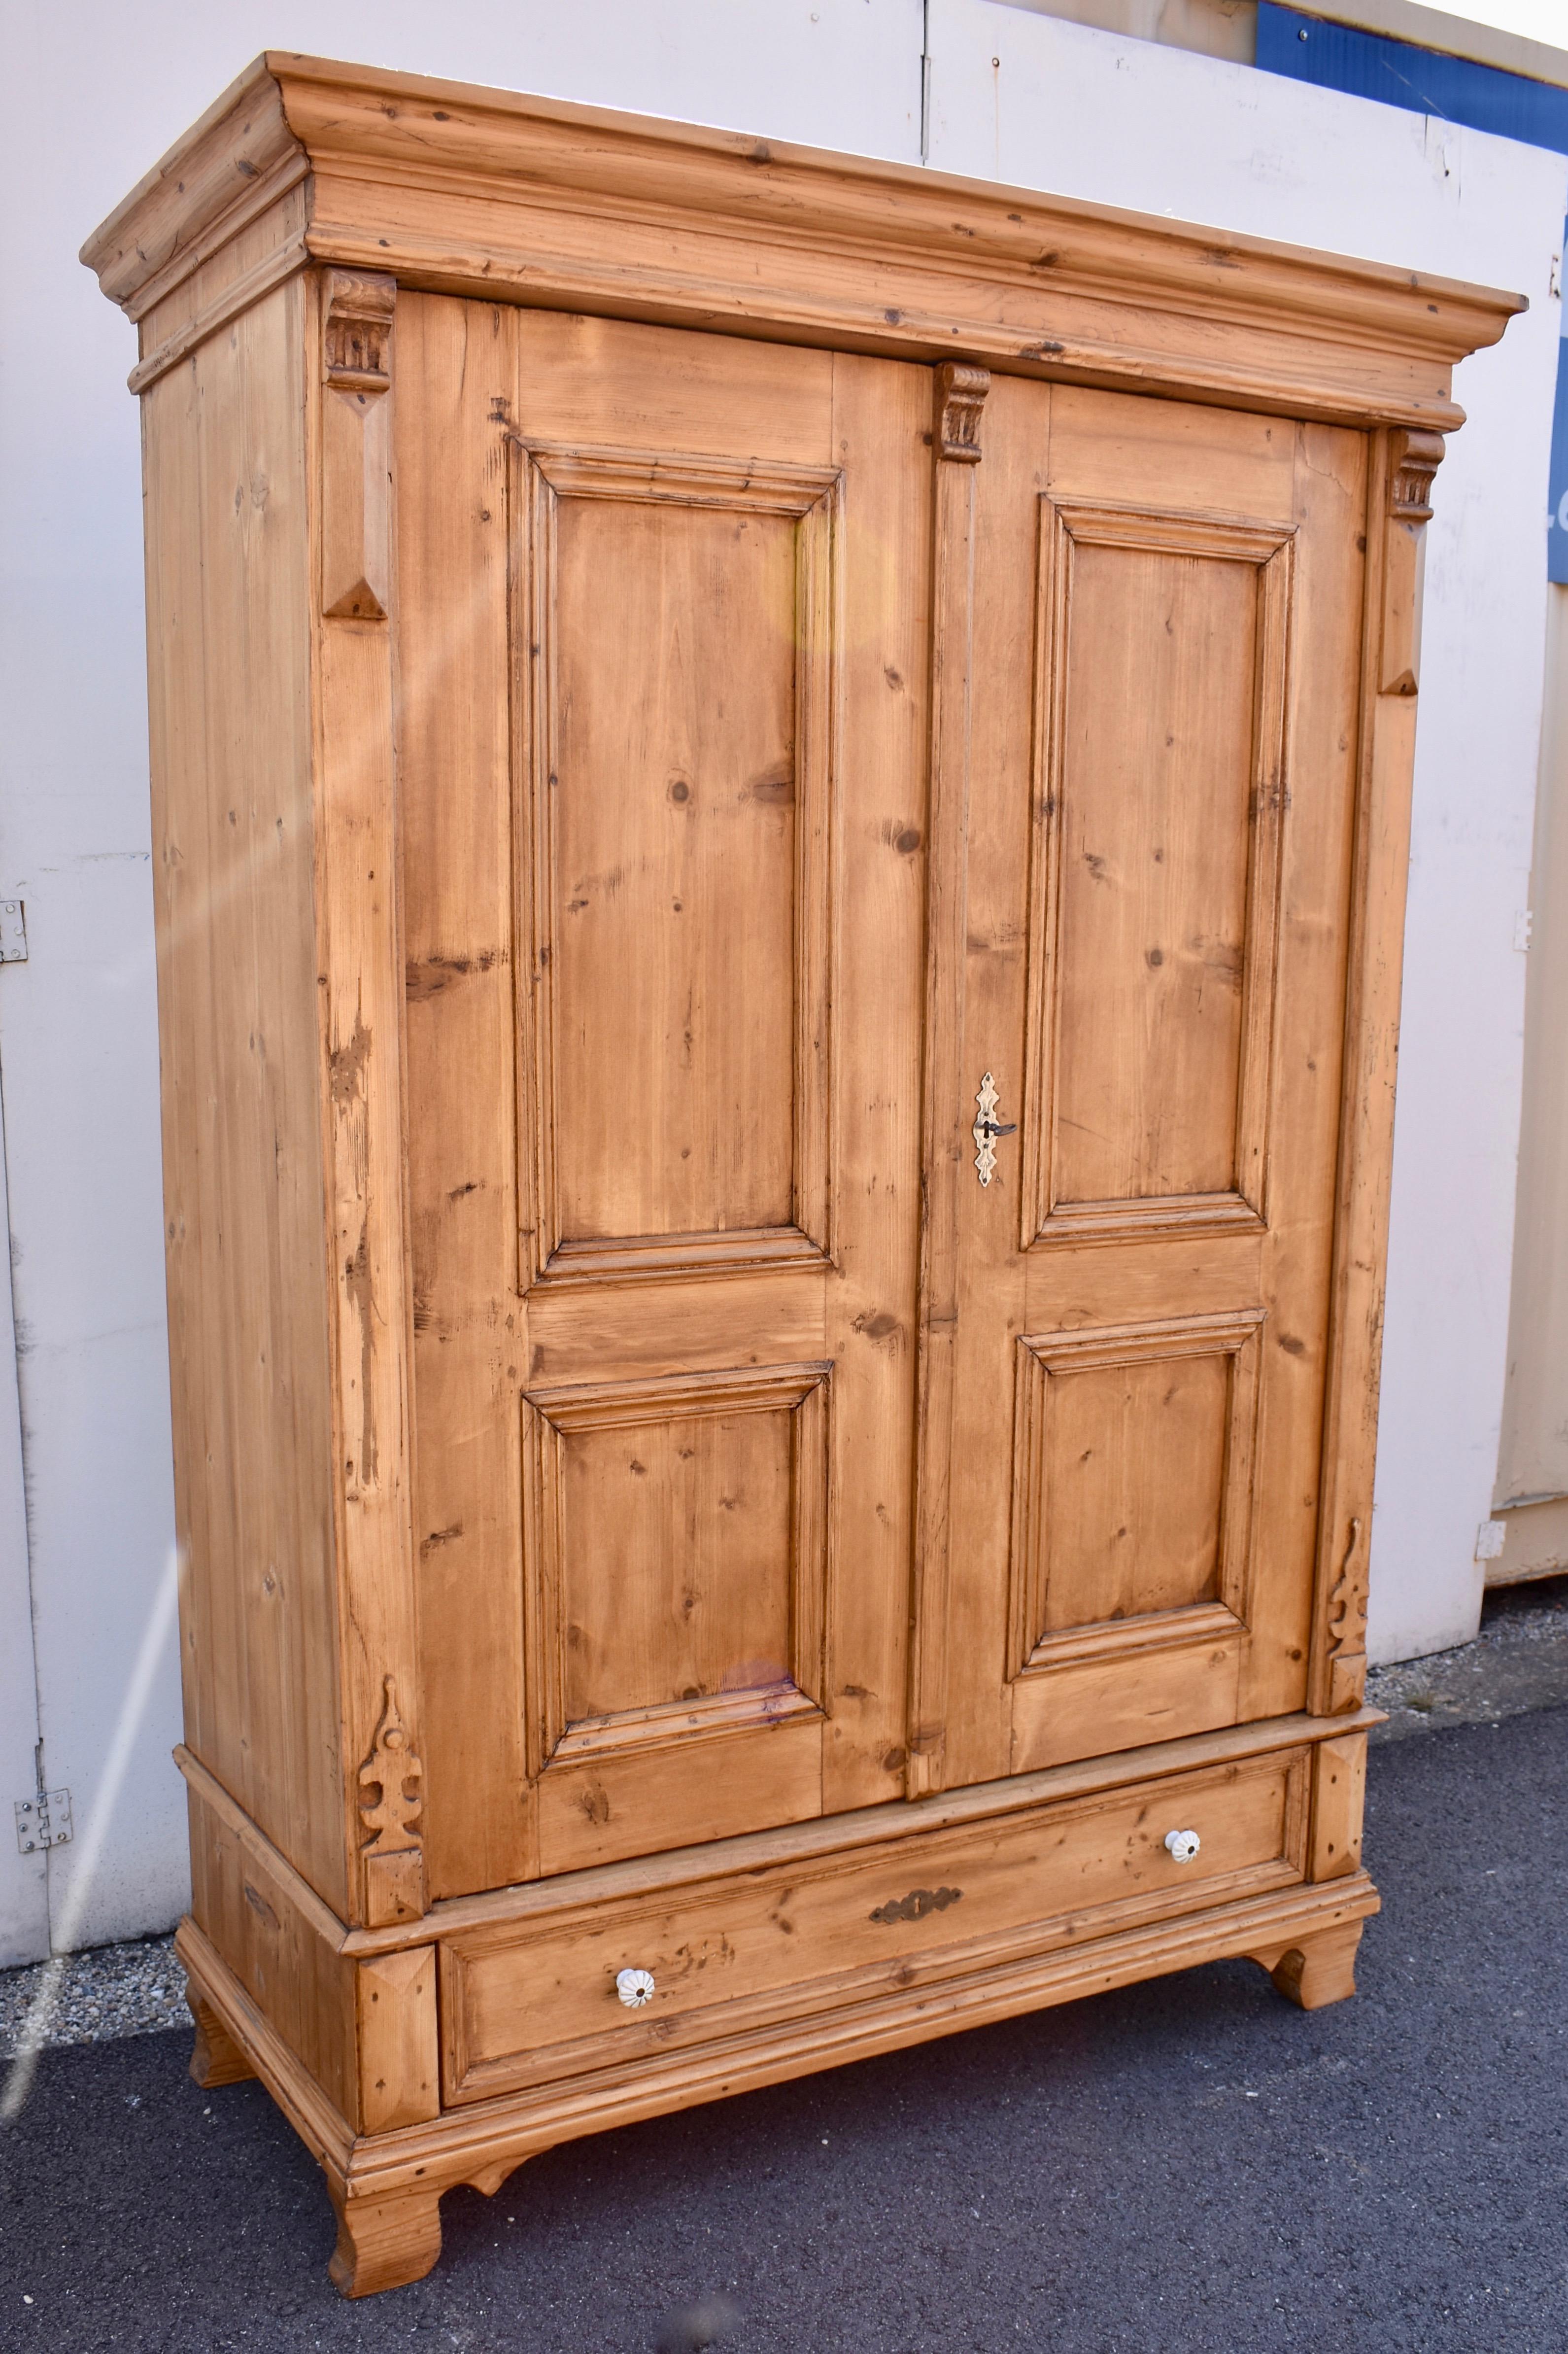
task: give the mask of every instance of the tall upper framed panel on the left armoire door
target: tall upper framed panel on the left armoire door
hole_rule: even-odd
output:
[[[525,1283],[829,1250],[836,508],[513,440]]]

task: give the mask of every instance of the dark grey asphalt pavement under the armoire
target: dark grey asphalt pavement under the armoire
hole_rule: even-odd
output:
[[[570,2142],[360,2305],[257,2083],[47,2050],[0,2349],[1563,2354],[1568,1709],[1377,1749],[1368,1864],[1351,2003],[1212,1963]]]

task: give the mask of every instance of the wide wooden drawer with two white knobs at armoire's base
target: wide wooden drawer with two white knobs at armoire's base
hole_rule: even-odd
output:
[[[527,1919],[443,1940],[443,2097],[624,2067],[1290,1886],[1304,1876],[1307,1758],[1274,1751],[624,1900],[596,1886],[549,1904],[539,1890]],[[1196,1831],[1198,1855],[1175,1862],[1168,1831]],[[655,1980],[640,2010],[617,1994],[626,1968]]]

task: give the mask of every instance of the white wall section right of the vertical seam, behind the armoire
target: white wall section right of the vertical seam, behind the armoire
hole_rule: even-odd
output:
[[[1530,297],[1457,370],[1429,530],[1373,1511],[1373,1660],[1462,1643],[1507,1361],[1568,160],[989,0],[932,0],[930,47],[944,169]]]

